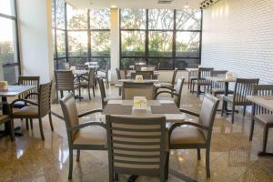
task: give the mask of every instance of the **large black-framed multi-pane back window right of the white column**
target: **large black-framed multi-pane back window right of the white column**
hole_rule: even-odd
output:
[[[121,9],[120,66],[136,62],[160,69],[200,63],[201,10]]]

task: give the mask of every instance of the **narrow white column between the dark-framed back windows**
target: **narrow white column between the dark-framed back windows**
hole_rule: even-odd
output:
[[[111,8],[110,41],[111,41],[111,81],[115,82],[117,79],[116,67],[119,67],[119,13],[117,8]]]

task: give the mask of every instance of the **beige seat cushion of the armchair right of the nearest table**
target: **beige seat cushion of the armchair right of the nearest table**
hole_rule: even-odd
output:
[[[170,136],[170,148],[190,144],[206,144],[206,138],[194,126],[177,127]]]

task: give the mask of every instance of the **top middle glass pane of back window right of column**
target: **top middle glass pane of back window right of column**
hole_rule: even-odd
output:
[[[149,29],[174,29],[174,11],[170,9],[151,9],[148,12]]]

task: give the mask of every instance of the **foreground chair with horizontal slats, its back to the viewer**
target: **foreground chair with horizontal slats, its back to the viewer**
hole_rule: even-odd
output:
[[[166,181],[166,117],[106,116],[106,125],[110,182],[118,174]]]

